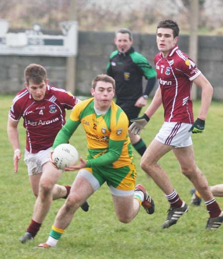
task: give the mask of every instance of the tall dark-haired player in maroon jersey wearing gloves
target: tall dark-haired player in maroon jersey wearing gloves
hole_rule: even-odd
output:
[[[162,189],[170,204],[167,220],[162,227],[168,228],[176,224],[180,216],[188,211],[188,206],[180,199],[167,173],[158,164],[158,160],[172,150],[182,173],[192,182],[205,201],[210,214],[206,228],[217,229],[223,222],[223,211],[208,188],[206,177],[196,165],[190,136],[191,132],[202,133],[205,129],[213,87],[194,61],[179,50],[178,35],[179,27],[174,21],[164,20],[158,24],[157,46],[160,52],[155,56],[155,66],[159,88],[145,114],[133,119],[134,123],[129,130],[134,134],[140,133],[163,104],[165,122],[141,159],[142,169]],[[202,91],[201,106],[195,121],[190,97],[193,82]]]

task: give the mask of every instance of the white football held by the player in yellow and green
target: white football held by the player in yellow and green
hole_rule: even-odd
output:
[[[65,167],[75,165],[79,159],[79,155],[74,146],[70,144],[60,144],[55,148],[52,158],[57,168],[64,169]]]

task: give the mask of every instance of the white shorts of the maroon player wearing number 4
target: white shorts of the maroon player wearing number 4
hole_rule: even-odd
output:
[[[51,148],[41,150],[36,154],[29,153],[25,150],[24,161],[28,167],[28,175],[34,175],[42,173],[43,165],[50,161]]]

